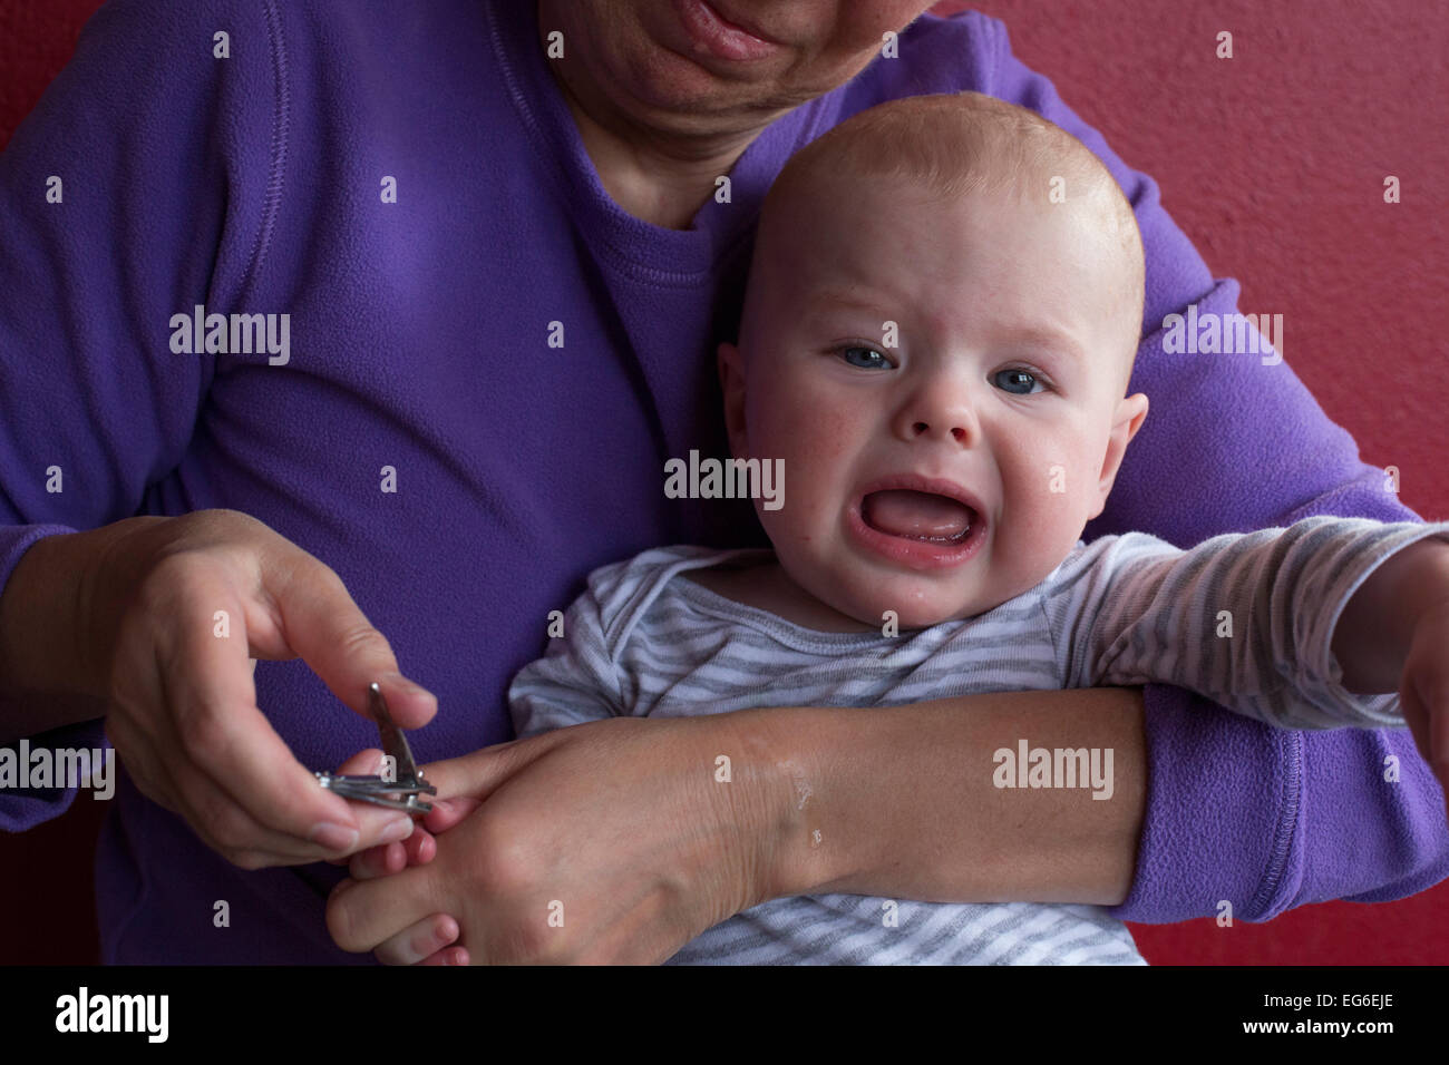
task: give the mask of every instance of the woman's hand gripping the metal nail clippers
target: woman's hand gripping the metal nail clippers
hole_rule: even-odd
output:
[[[436,713],[336,572],[235,510],[123,525],[85,596],[83,668],[103,678],[106,733],[141,791],[245,869],[412,833],[396,810],[320,788],[256,707],[249,659],[300,655],[364,717],[374,680],[398,726]]]

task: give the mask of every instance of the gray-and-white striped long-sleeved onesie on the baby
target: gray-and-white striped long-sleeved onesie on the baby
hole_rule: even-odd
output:
[[[769,551],[659,548],[590,574],[564,636],[519,672],[509,700],[517,735],[527,736],[619,714],[885,707],[1155,681],[1284,729],[1403,727],[1397,694],[1342,687],[1330,642],[1369,572],[1427,536],[1449,539],[1449,523],[1316,516],[1185,552],[1145,533],[1103,536],[1078,542],[1040,584],[993,610],[895,636],[814,632],[680,577],[771,561]],[[1029,772],[1013,765],[1014,752],[997,759],[998,787]],[[1032,772],[1061,785],[1051,774],[1064,761],[1085,785],[1081,756]],[[1106,765],[1100,758],[1093,768]],[[817,894],[735,914],[668,964],[1146,962],[1106,907]]]

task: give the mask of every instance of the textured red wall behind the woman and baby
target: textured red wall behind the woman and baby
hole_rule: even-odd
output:
[[[0,146],[70,57],[97,0],[0,0]],[[939,10],[968,4],[946,3]],[[1284,356],[1404,501],[1449,519],[1449,4],[1417,0],[981,0],[1016,54],[1162,200],[1242,310],[1284,316]],[[1235,58],[1217,59],[1219,30]],[[1394,174],[1403,201],[1384,204]],[[1153,401],[1171,401],[1169,397]],[[1224,432],[1232,432],[1224,426]],[[96,958],[101,803],[0,838],[0,962]],[[1449,961],[1449,884],[1264,926],[1133,933],[1153,964]],[[17,919],[26,914],[26,919]]]

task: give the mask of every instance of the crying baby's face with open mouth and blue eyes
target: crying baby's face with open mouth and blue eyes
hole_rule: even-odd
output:
[[[784,459],[755,509],[788,577],[916,629],[1027,591],[1101,513],[1148,407],[1122,396],[1140,317],[1085,204],[862,184],[762,235],[726,416],[738,456]]]

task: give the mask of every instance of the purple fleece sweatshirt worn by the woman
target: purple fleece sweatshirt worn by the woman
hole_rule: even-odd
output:
[[[1133,390],[1152,417],[1085,539],[1140,529],[1187,548],[1308,514],[1417,517],[1287,364],[1164,354],[1164,316],[1230,313],[1237,284],[993,19],[923,16],[898,58],[765,130],[730,203],[681,232],[603,190],[529,0],[113,0],[0,156],[0,580],[41,536],[243,510],[335,568],[438,694],[420,761],[510,739],[509,680],[593,568],[662,543],[765,545],[746,503],[665,498],[662,469],[691,448],[727,455],[714,345],[735,336],[774,175],[871,104],[965,88],[1080,136],[1136,206]],[[175,354],[171,317],[197,304],[290,314],[287,364]],[[261,662],[256,693],[312,769],[375,742],[300,661]],[[1227,898],[1264,920],[1449,874],[1440,790],[1407,732],[1274,732],[1146,693],[1148,820],[1117,916]],[[100,724],[39,742],[91,746]],[[0,793],[0,826],[74,797]],[[236,869],[129,780],[96,868],[107,962],[371,961],[327,936],[341,869]],[[212,924],[220,898],[229,929]]]

